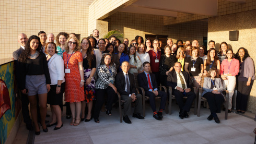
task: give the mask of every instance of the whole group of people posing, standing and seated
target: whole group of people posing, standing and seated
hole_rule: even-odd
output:
[[[55,39],[54,39],[55,38]],[[69,125],[77,126],[81,121],[89,122],[92,117],[99,123],[100,111],[112,115],[112,104],[119,92],[124,100],[125,123],[129,119],[131,103],[135,103],[133,117],[144,119],[142,114],[142,95],[137,93],[133,73],[138,73],[138,85],[145,90],[152,107],[153,117],[162,119],[167,93],[158,86],[172,88],[179,105],[179,117],[188,118],[190,107],[196,98],[193,87],[201,88],[203,97],[210,105],[211,115],[217,117],[225,99],[223,91],[229,91],[228,112],[231,112],[231,100],[237,81],[238,113],[245,113],[248,95],[252,88],[254,66],[248,51],[241,47],[236,54],[226,42],[220,44],[220,51],[215,50],[215,42],[208,43],[209,50],[199,46],[197,40],[182,40],[173,43],[167,40],[164,49],[159,40],[144,39],[136,36],[129,45],[115,36],[99,39],[99,31],[93,31],[93,37],[83,38],[80,42],[75,33],[60,32],[56,37],[40,31],[37,35],[18,35],[20,49],[13,53],[17,83],[22,93],[22,114],[27,129],[32,129],[28,103],[33,120],[35,134],[40,134],[38,122],[43,131],[55,126],[63,127],[62,98],[65,92],[66,118],[72,118]],[[204,53],[207,53],[205,55]],[[219,78],[220,76],[220,78]],[[106,102],[105,97],[107,96]],[[161,97],[159,111],[155,97]],[[187,101],[183,101],[187,97]],[[50,104],[52,121],[46,125],[46,103]],[[106,104],[106,108],[104,107]],[[87,109],[86,109],[87,105]],[[40,108],[39,108],[40,107]],[[40,111],[39,111],[40,109]],[[88,110],[88,111],[86,111]]]

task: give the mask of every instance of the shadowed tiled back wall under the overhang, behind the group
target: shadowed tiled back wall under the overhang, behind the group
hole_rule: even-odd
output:
[[[104,19],[109,22],[109,30],[119,29],[124,33],[124,37],[129,41],[136,35],[141,35],[145,39],[145,34],[168,35],[176,42],[178,39],[192,41],[199,40],[203,44],[203,37],[207,37],[207,21],[193,21],[180,23],[172,26],[164,26],[162,16],[132,14],[118,12]]]

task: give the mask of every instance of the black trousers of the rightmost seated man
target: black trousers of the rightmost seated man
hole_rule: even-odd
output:
[[[189,112],[190,107],[196,97],[194,91],[186,92],[185,94],[183,94],[183,92],[181,92],[179,90],[174,90],[172,92],[172,94],[175,95],[176,102],[178,103],[178,105],[180,107],[180,111],[184,110],[184,111]],[[188,97],[187,101],[185,103],[183,102],[183,97]]]

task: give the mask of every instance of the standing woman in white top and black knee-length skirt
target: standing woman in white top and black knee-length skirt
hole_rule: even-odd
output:
[[[46,55],[49,73],[51,77],[51,90],[48,92],[47,103],[51,105],[52,121],[47,127],[56,125],[54,130],[63,127],[61,120],[62,110],[62,97],[65,86],[65,73],[64,73],[64,61],[61,56],[57,55],[56,44],[48,42],[45,45]]]

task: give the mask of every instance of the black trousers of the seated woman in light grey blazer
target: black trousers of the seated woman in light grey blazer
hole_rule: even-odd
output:
[[[203,95],[207,99],[207,102],[210,106],[211,113],[220,113],[220,109],[224,102],[224,97],[222,94],[214,94],[212,92],[206,92]]]

